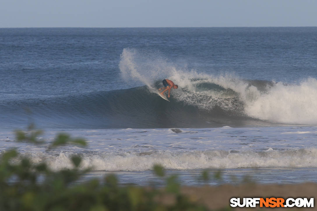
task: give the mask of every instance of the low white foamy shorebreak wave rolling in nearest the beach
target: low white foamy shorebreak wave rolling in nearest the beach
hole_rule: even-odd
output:
[[[49,155],[46,152],[23,153],[33,163],[47,162],[52,170],[72,169],[71,152]],[[122,152],[81,154],[80,168],[107,171],[141,171],[152,169],[156,163],[166,169],[203,169],[203,168],[257,168],[257,167],[317,167],[317,149],[272,150],[264,151],[192,151],[192,152]],[[19,159],[16,160],[19,162]]]

